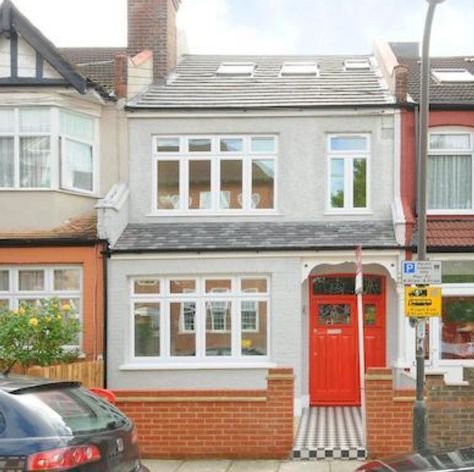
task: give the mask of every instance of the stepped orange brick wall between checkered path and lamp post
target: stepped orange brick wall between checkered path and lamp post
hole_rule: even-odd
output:
[[[412,450],[414,390],[394,390],[391,369],[366,376],[367,449],[371,458]]]

